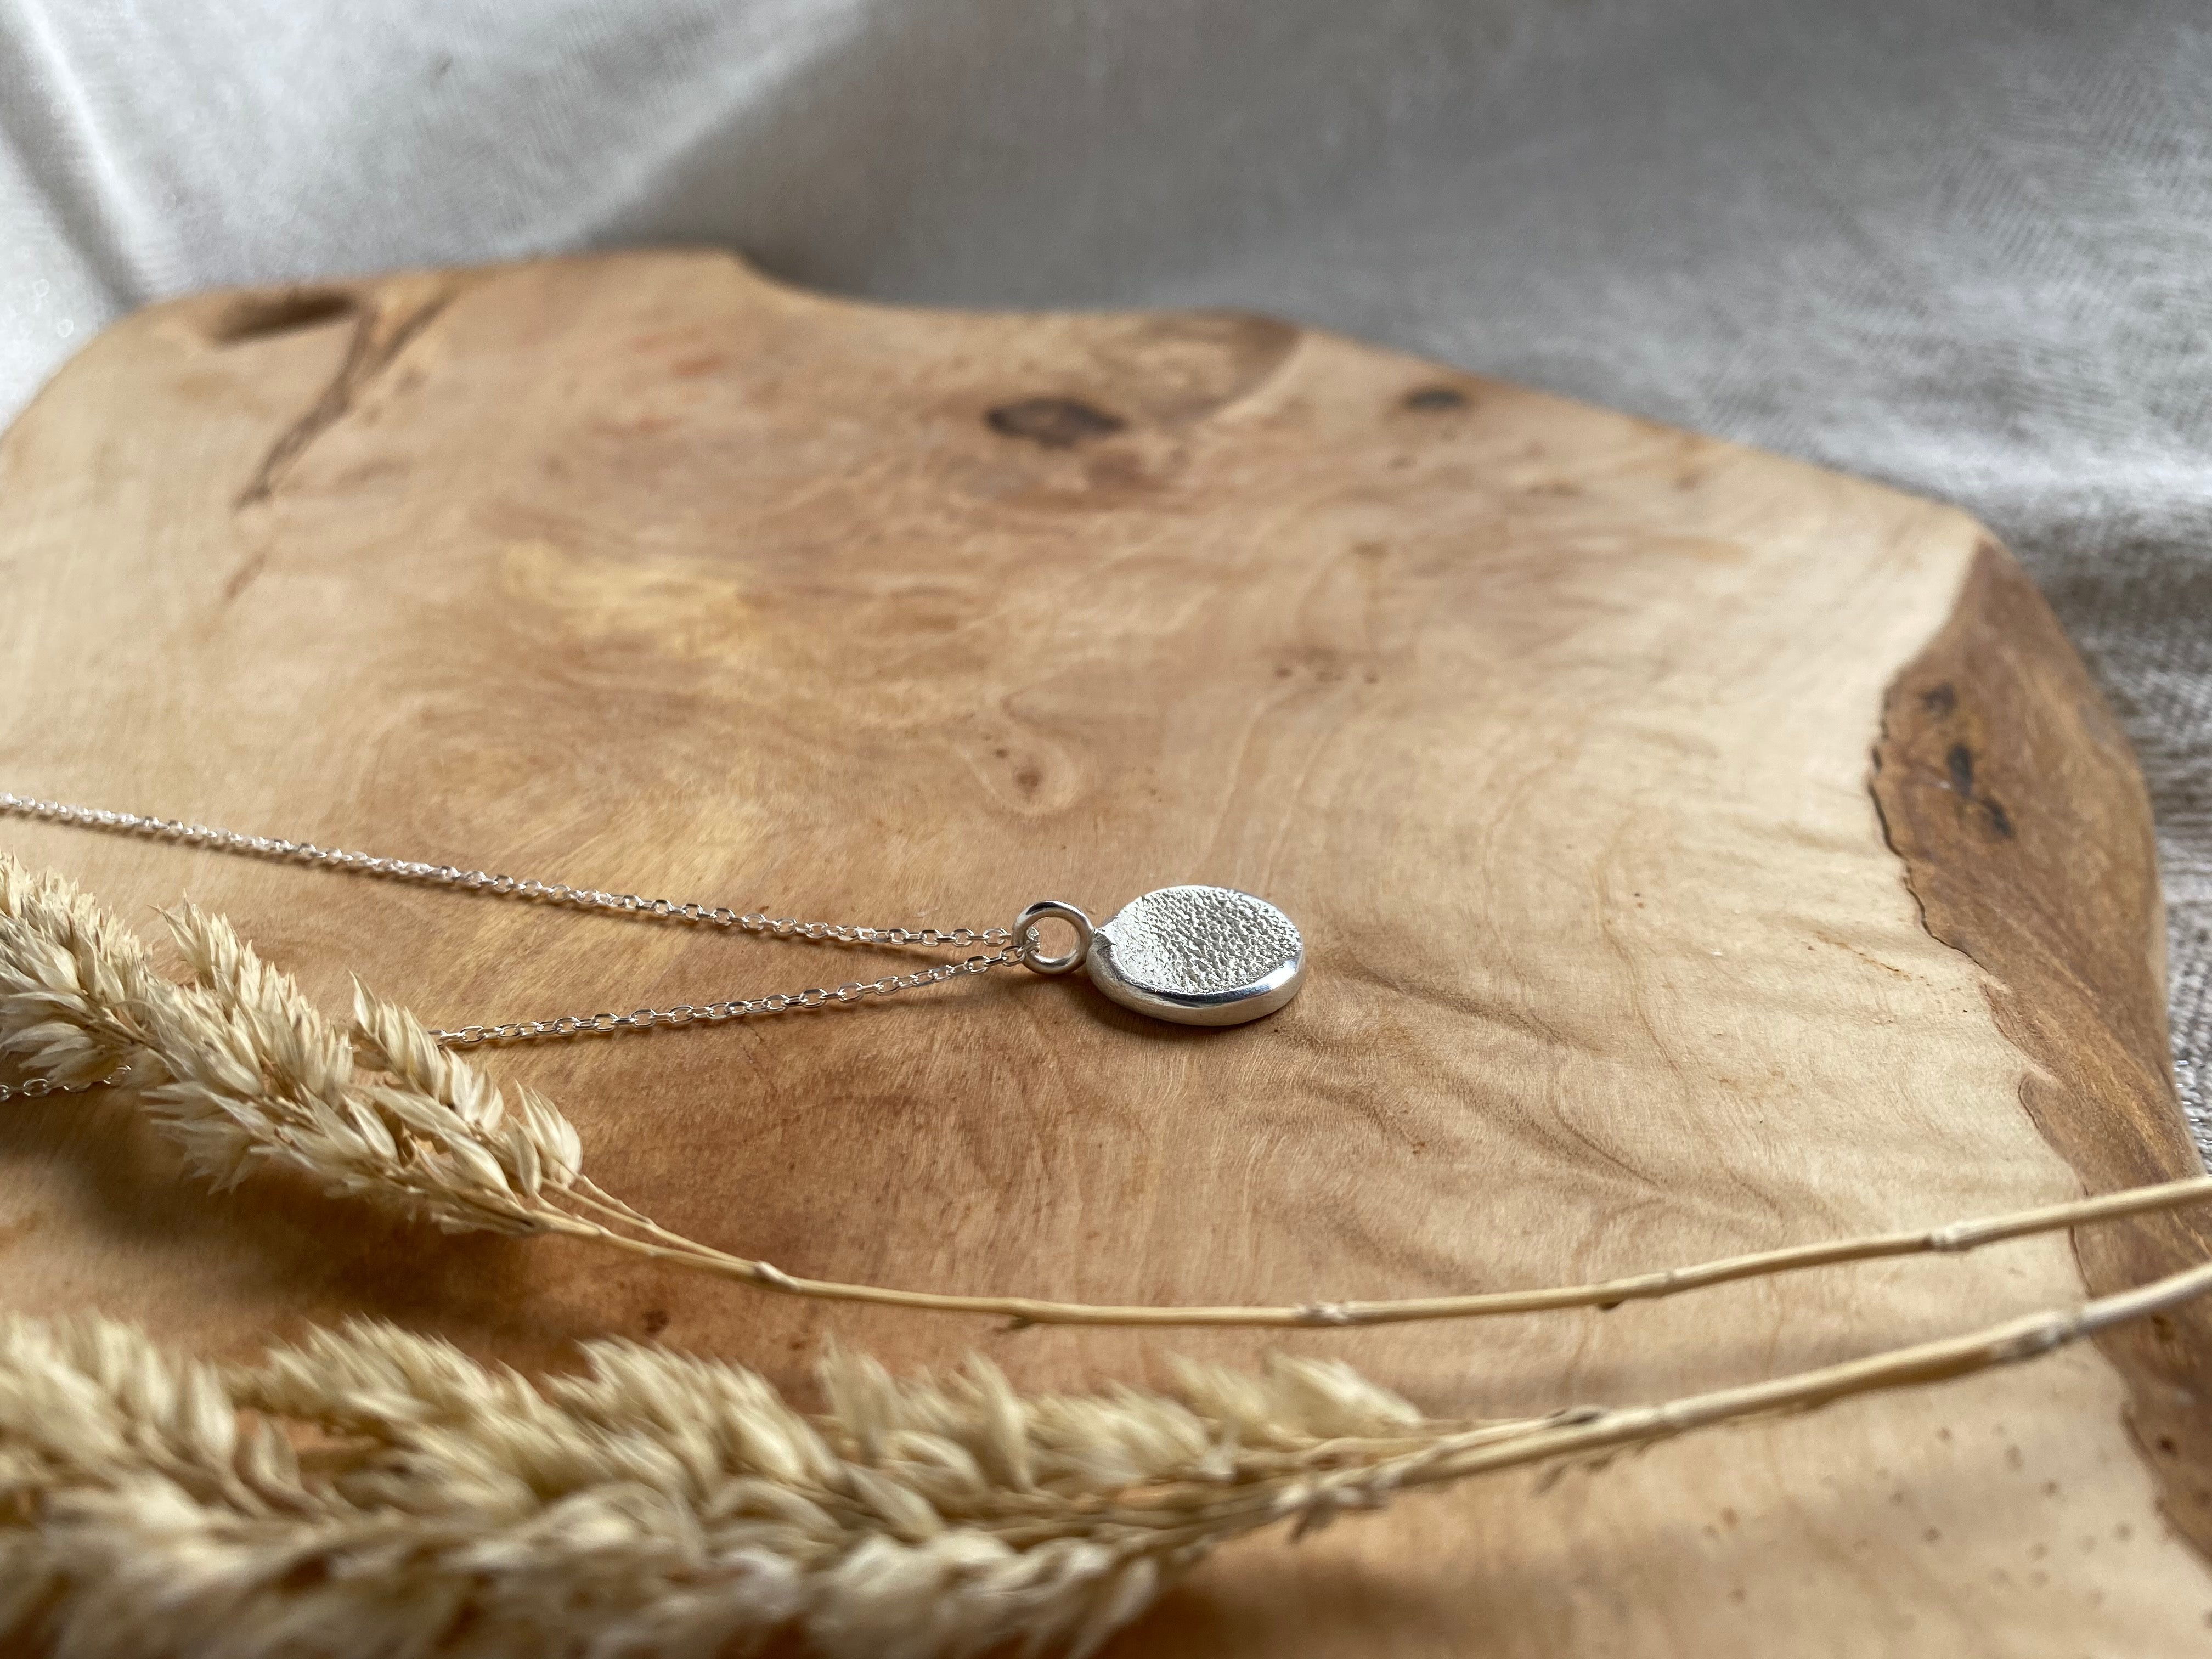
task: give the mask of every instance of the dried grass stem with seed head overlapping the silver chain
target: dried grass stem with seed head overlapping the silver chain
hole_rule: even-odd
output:
[[[1354,1327],[1617,1307],[1807,1267],[1955,1254],[2008,1239],[2174,1210],[2212,1199],[2212,1175],[1936,1228],[1785,1245],[1588,1285],[1296,1305],[1108,1305],[967,1296],[805,1279],[661,1228],[595,1186],[582,1139],[544,1097],[502,1095],[440,1048],[405,1009],[358,991],[349,1029],[190,905],[168,916],[190,984],[148,964],[144,945],[53,874],[0,858],[0,1053],[33,1075],[84,1082],[117,1066],[219,1183],[290,1166],[334,1192],[374,1197],[449,1230],[557,1232],[779,1296],[967,1314],[1011,1325]]]

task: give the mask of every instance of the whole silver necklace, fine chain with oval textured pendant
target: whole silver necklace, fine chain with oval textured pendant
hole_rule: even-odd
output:
[[[383,858],[343,847],[316,847],[312,841],[246,836],[237,830],[212,830],[204,823],[150,818],[137,812],[38,801],[0,794],[0,812],[49,823],[115,830],[122,834],[181,841],[192,847],[276,858],[296,865],[323,865],[361,876],[414,880],[431,887],[460,887],[473,894],[522,898],[573,909],[622,911],[692,927],[721,927],[741,933],[772,933],[832,945],[889,945],[918,949],[971,951],[953,962],[931,962],[914,973],[887,973],[878,980],[849,980],[836,989],[765,998],[726,998],[695,1006],[637,1009],[633,1013],[557,1015],[553,1020],[511,1020],[507,1024],[469,1024],[431,1031],[449,1048],[471,1048],[480,1042],[526,1042],[538,1037],[584,1037],[615,1031],[650,1031],[653,1026],[721,1024],[770,1013],[796,1013],[852,1004],[865,998],[916,991],[942,984],[964,973],[989,973],[998,967],[1026,967],[1031,973],[1060,975],[1086,969],[1091,982],[1124,1009],[1155,1020],[1192,1026],[1232,1026],[1274,1013],[1305,982],[1305,942],[1292,920],[1263,898],[1234,887],[1161,887],[1133,898],[1110,920],[1093,920],[1057,898],[1042,898],[1013,918],[1013,927],[858,927],[847,922],[803,922],[765,911],[734,911],[726,905],[701,905],[639,894],[602,894],[568,883],[515,880],[484,869],[429,865],[414,858]],[[1057,956],[1044,953],[1037,922],[1060,920],[1075,931],[1075,945]],[[980,951],[975,947],[982,947]],[[44,1091],[42,1091],[44,1093]],[[0,1095],[4,1099],[4,1095]]]

